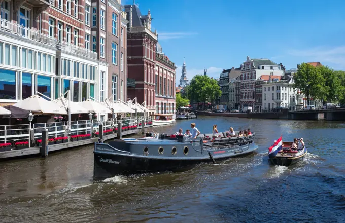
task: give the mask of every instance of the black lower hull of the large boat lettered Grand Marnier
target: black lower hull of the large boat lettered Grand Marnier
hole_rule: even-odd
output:
[[[253,153],[241,153],[238,156],[245,156]],[[232,157],[238,157],[232,156]],[[215,159],[217,163],[232,157]],[[116,160],[116,161],[115,161]],[[197,160],[181,159],[151,159],[147,157],[132,157],[116,154],[94,154],[94,180],[104,180],[115,175],[132,175],[157,172],[181,172],[192,169],[200,163],[213,163],[211,158]]]

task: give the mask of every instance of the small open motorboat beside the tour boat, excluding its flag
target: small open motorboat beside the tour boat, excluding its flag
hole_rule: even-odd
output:
[[[292,142],[282,142],[282,148],[277,154],[269,155],[269,161],[273,165],[290,166],[299,162],[308,150],[306,147],[302,150],[291,150]]]

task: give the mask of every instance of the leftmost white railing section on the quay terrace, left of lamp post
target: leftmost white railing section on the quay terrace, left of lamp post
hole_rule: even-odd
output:
[[[28,141],[30,135],[29,124],[0,126],[0,142]]]

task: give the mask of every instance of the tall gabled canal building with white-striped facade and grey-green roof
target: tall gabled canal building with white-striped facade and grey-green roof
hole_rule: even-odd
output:
[[[247,56],[246,61],[241,65],[240,75],[240,107],[255,106],[255,80],[262,75],[282,76],[284,70],[281,64],[274,63],[269,59],[251,59]]]

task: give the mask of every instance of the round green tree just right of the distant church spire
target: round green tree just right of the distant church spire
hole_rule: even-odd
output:
[[[217,81],[204,75],[194,76],[188,91],[190,99],[195,102],[212,102],[222,94]]]

